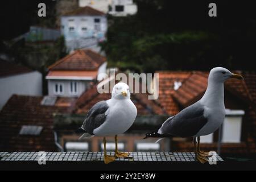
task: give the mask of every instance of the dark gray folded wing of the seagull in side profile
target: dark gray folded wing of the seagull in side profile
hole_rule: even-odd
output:
[[[207,123],[204,111],[204,106],[197,102],[174,117],[168,118],[159,131],[162,134],[171,134],[177,137],[192,137]]]

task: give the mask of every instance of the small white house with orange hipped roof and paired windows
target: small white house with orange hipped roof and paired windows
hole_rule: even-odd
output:
[[[79,97],[90,82],[102,79],[99,74],[106,73],[106,64],[106,58],[94,51],[74,51],[48,68],[48,95]]]

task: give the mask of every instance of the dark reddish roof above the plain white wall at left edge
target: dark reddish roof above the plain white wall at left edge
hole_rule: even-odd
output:
[[[0,60],[0,77],[32,72],[31,69]]]

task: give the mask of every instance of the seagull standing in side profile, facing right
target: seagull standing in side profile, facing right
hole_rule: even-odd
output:
[[[200,150],[200,136],[213,133],[224,122],[224,82],[229,78],[243,80],[241,75],[226,68],[213,68],[209,73],[204,96],[195,104],[168,118],[158,131],[146,134],[145,138],[193,137],[196,159],[200,163],[207,162],[209,153]]]

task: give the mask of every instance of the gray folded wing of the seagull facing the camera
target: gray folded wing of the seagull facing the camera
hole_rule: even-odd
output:
[[[82,129],[91,135],[93,130],[101,126],[106,120],[106,110],[109,109],[109,105],[106,101],[97,102],[88,112],[84,123],[82,123]]]

